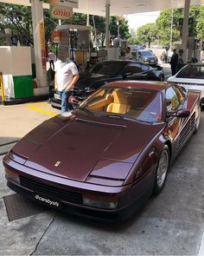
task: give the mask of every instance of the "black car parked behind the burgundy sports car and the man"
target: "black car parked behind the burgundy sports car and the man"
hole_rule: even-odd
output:
[[[82,101],[105,83],[117,80],[163,81],[163,68],[131,60],[98,62],[80,74],[73,95]],[[55,89],[50,91],[50,103],[54,108],[61,108],[61,100]]]

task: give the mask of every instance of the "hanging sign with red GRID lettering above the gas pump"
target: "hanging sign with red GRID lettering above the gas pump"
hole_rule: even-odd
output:
[[[73,16],[73,9],[65,6],[50,5],[50,15],[56,19],[69,19]]]

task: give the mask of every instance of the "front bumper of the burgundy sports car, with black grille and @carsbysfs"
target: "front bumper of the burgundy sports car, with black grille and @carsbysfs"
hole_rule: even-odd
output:
[[[14,163],[14,161],[10,163]],[[23,167],[16,162],[14,163],[16,168],[7,165],[5,161],[3,161],[3,164],[7,169],[20,175],[20,184],[7,177],[8,187],[16,193],[22,194],[30,200],[35,200],[47,207],[54,207],[54,209],[63,212],[100,220],[124,220],[130,217],[132,213],[141,207],[143,201],[150,197],[154,180],[152,178],[153,175],[149,174],[132,187],[103,187],[86,182],[70,181],[60,177],[56,178],[56,176],[50,174],[45,175],[39,171]],[[21,168],[17,166],[21,166]],[[18,169],[21,171],[18,171]],[[28,171],[28,174],[24,173],[23,170]],[[29,182],[26,182],[26,180]],[[95,198],[99,196],[106,197],[106,199],[117,198],[118,207],[103,209],[85,206],[83,204],[83,196],[87,194],[91,194]],[[54,204],[49,205],[44,201],[36,200],[36,195],[54,202]],[[58,203],[60,207],[55,207]]]

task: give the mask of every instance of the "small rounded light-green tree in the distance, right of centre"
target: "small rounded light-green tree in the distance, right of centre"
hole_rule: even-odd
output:
[[[150,43],[156,42],[158,39],[158,30],[156,23],[149,23],[141,26],[137,29],[137,38],[143,44],[148,44],[150,48]]]

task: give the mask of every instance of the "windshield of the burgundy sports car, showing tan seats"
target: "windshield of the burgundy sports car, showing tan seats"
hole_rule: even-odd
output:
[[[92,115],[157,122],[162,120],[161,97],[160,92],[150,89],[105,87],[82,102],[80,108]]]

